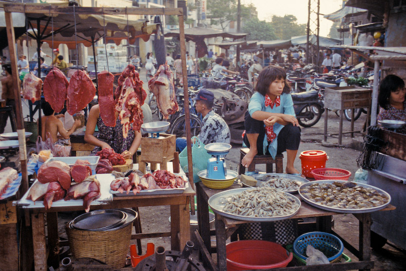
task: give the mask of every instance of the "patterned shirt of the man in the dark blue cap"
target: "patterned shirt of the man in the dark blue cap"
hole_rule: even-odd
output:
[[[205,145],[215,142],[230,144],[230,129],[223,118],[214,113],[213,110],[203,118],[203,123],[204,125],[197,136],[202,143]]]

